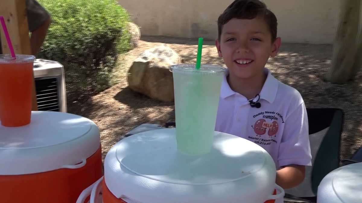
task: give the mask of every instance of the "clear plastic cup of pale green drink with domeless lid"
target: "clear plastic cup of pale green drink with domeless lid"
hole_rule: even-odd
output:
[[[171,66],[177,149],[185,154],[210,152],[225,68],[213,65]]]

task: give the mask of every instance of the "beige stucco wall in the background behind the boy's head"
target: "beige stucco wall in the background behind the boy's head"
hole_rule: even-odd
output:
[[[233,0],[119,0],[142,35],[216,39],[218,16]],[[283,42],[332,43],[343,0],[264,0]]]

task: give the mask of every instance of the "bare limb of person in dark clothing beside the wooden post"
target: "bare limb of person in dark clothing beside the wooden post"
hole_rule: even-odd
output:
[[[49,25],[50,25],[50,18],[48,18],[43,25],[41,25],[38,29],[34,30],[33,32],[31,32],[31,36],[30,36],[30,47],[31,47],[31,54],[32,55],[36,55],[40,48],[43,45],[45,36],[47,34]]]

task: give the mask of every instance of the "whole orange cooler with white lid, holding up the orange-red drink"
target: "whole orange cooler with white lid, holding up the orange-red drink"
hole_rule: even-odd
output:
[[[100,134],[91,120],[34,111],[29,125],[0,125],[0,202],[75,203],[101,177]]]

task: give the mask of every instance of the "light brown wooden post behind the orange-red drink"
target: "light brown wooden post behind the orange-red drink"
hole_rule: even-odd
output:
[[[5,18],[15,53],[31,55],[25,0],[1,0],[0,16]],[[1,49],[4,54],[10,53],[3,31],[1,31]],[[37,111],[35,83],[32,89],[32,110]]]

